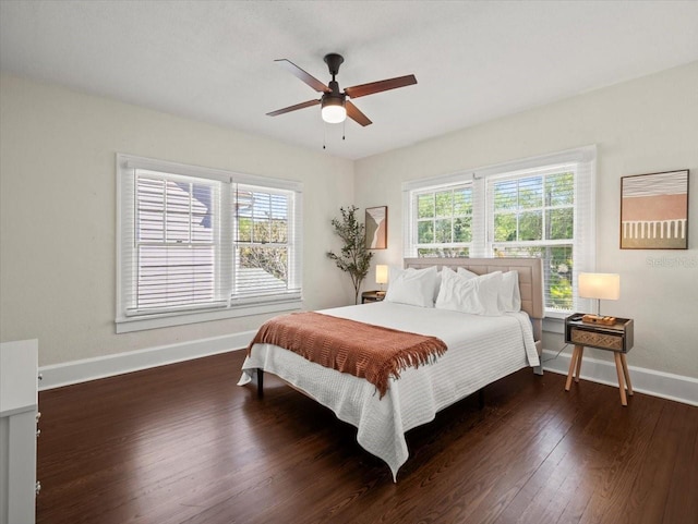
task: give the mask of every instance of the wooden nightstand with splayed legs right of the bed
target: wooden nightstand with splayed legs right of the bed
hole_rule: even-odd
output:
[[[579,370],[581,369],[581,357],[585,352],[585,346],[612,351],[615,360],[616,375],[618,376],[621,403],[628,405],[627,398],[625,397],[625,388],[627,386],[628,394],[631,395],[633,385],[630,383],[630,374],[628,373],[625,354],[633,349],[633,319],[616,318],[614,324],[605,326],[583,322],[581,317],[581,313],[575,313],[565,318],[565,342],[575,344],[575,351],[571,354],[571,362],[569,363],[569,373],[567,373],[565,391],[569,391],[573,378],[575,382],[579,381]]]

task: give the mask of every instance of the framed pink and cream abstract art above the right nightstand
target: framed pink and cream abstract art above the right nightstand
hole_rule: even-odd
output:
[[[688,170],[621,179],[621,248],[688,248]]]

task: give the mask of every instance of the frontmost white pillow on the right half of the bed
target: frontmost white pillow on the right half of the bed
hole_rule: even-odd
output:
[[[435,307],[492,317],[502,315],[498,306],[502,271],[471,277],[461,273],[460,269],[458,273],[449,268],[442,270]]]

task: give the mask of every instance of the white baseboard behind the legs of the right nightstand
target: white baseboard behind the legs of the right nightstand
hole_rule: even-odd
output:
[[[567,375],[571,355],[543,350],[543,369]],[[628,366],[633,390],[698,406],[698,379],[655,371],[645,367]],[[613,362],[600,361],[583,356],[581,361],[581,378],[593,382],[618,387],[618,377]]]

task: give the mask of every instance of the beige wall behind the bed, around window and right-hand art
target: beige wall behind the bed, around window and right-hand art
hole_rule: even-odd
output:
[[[698,62],[357,161],[357,205],[388,206],[389,245],[375,263],[400,261],[402,182],[591,144],[597,270],[621,273],[621,300],[602,313],[635,319],[630,366],[698,377]],[[621,176],[686,168],[691,248],[619,249]],[[544,344],[563,340],[547,334]]]

